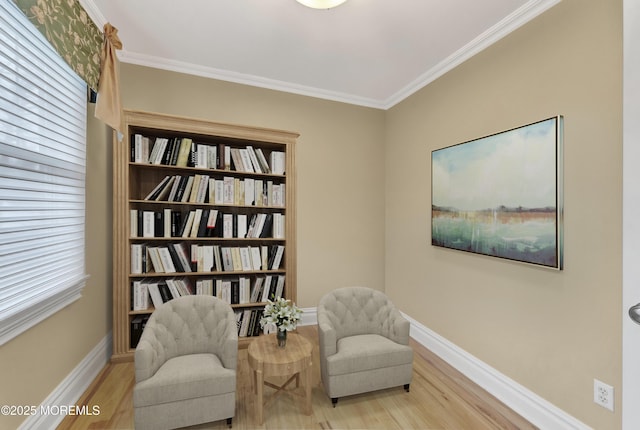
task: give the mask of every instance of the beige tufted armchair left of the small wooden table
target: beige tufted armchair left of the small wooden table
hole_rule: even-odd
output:
[[[135,351],[135,427],[171,429],[231,420],[238,334],[231,306],[184,296],[158,307]]]

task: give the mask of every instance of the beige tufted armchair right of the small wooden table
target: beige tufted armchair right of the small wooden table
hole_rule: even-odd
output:
[[[380,291],[347,287],[325,295],[318,336],[322,383],[334,407],[343,396],[401,385],[409,391],[409,321]]]

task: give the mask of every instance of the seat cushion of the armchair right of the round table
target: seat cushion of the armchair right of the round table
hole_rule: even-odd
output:
[[[378,334],[362,334],[338,340],[338,352],[327,357],[327,373],[344,375],[400,366],[413,362],[413,350]]]

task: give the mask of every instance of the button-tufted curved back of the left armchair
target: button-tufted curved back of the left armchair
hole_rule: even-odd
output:
[[[149,318],[139,342],[143,344],[150,348],[136,349],[136,382],[153,376],[167,360],[181,355],[215,354],[225,368],[235,370],[235,314],[229,304],[213,296],[170,300]]]

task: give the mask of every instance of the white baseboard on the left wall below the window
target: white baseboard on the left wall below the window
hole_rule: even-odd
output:
[[[24,420],[18,430],[56,428],[66,416],[62,413],[63,408],[76,405],[78,399],[109,361],[111,345],[111,332],[109,332],[49,394],[39,406],[38,413],[30,415]],[[77,406],[91,408],[91,405]],[[41,411],[49,411],[50,413],[42,414]]]

